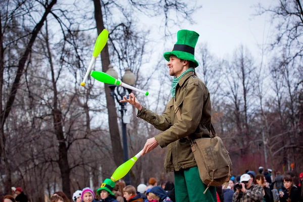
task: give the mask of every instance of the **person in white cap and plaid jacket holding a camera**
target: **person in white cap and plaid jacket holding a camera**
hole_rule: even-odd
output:
[[[263,188],[254,184],[254,179],[248,174],[241,175],[240,183],[235,184],[236,192],[233,194],[233,202],[263,201]]]

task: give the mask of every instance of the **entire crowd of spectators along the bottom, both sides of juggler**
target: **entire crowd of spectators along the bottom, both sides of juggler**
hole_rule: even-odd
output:
[[[289,174],[277,172],[275,178],[272,170],[259,168],[259,173],[246,170],[242,175],[232,176],[228,185],[217,187],[217,202],[303,202],[303,173],[298,178]],[[298,179],[298,180],[297,180]],[[21,187],[12,187],[12,195],[6,195],[4,202],[28,202]],[[203,193],[197,193],[203,194]],[[100,188],[93,190],[86,187],[77,190],[72,196],[75,202],[173,202],[175,186],[171,181],[158,184],[151,177],[148,184],[139,184],[137,188],[125,185],[123,181],[113,182],[105,179]],[[57,191],[51,197],[51,202],[71,202],[62,191]]]

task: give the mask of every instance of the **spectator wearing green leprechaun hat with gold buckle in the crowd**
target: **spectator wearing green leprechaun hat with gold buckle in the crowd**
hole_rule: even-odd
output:
[[[101,196],[102,202],[118,202],[115,198],[115,194],[112,192],[115,184],[115,182],[107,178],[104,180],[101,187],[97,189],[97,193]]]

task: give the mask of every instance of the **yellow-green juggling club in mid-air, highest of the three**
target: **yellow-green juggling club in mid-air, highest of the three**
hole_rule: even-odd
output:
[[[92,58],[91,61],[89,63],[89,66],[87,68],[86,74],[83,78],[83,81],[81,82],[81,86],[85,86],[85,81],[88,77],[88,74],[91,70],[91,67],[93,66],[94,62],[96,61],[96,58],[98,57],[98,55],[100,54],[100,52],[102,51],[102,49],[104,48],[107,39],[109,38],[109,30],[104,29],[98,36],[96,42],[95,42],[95,46],[93,49],[93,54],[92,54]]]

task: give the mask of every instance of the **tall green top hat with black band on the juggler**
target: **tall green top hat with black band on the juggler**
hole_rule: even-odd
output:
[[[163,54],[165,60],[169,61],[169,57],[174,55],[182,60],[192,61],[195,67],[199,66],[199,63],[194,59],[194,47],[198,38],[199,34],[195,31],[186,29],[179,30],[173,51]]]

